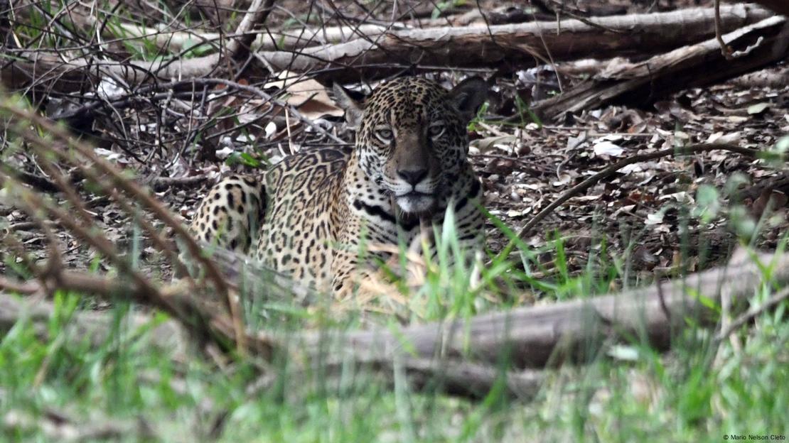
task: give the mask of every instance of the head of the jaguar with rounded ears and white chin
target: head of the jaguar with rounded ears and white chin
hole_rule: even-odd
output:
[[[479,77],[451,91],[432,80],[403,77],[357,98],[335,84],[356,129],[359,166],[406,214],[429,213],[466,162],[466,126],[487,96]]]

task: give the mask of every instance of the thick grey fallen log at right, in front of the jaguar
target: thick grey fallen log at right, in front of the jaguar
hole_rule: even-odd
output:
[[[394,359],[406,354],[491,364],[504,359],[514,367],[545,367],[564,359],[585,361],[597,355],[604,340],[642,339],[667,349],[688,318],[701,325],[716,324],[716,312],[704,303],[719,304],[722,288],[734,300],[750,296],[763,283],[761,263],[768,262],[774,266],[772,282],[787,285],[789,255],[757,255],[745,263],[588,300],[409,326],[397,332],[380,328],[337,334],[331,349],[354,359]],[[320,348],[326,336],[325,332],[307,335],[305,340],[312,348]]]

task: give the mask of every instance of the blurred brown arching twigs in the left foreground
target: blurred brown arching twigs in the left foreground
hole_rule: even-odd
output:
[[[215,337],[219,339],[220,342],[225,342],[226,338],[219,338],[219,336],[224,336],[226,333],[234,331],[234,333],[230,333],[230,336],[234,337],[233,341],[235,344],[237,344],[239,351],[244,352],[247,343],[247,335],[241,322],[240,308],[237,307],[238,301],[236,297],[228,290],[228,285],[226,284],[226,281],[222,275],[219,274],[215,264],[211,262],[210,259],[205,258],[202,254],[200,254],[200,247],[197,246],[195,240],[193,240],[192,237],[186,233],[185,228],[181,225],[181,223],[175,220],[172,215],[161,206],[161,203],[153,199],[150,195],[148,195],[147,192],[144,192],[132,181],[129,181],[123,177],[122,173],[120,173],[114,168],[114,166],[110,165],[110,163],[103,158],[99,158],[91,148],[85,147],[83,144],[72,140],[69,134],[62,128],[59,128],[50,121],[47,121],[44,117],[40,117],[37,114],[17,109],[16,106],[9,106],[6,103],[2,103],[0,104],[0,107],[6,110],[6,112],[9,114],[16,115],[21,119],[21,121],[32,121],[36,125],[39,125],[49,132],[55,140],[65,143],[74,151],[77,151],[80,155],[84,156],[84,158],[92,160],[94,167],[101,173],[106,174],[109,184],[106,183],[103,177],[96,175],[92,169],[84,167],[84,165],[82,165],[80,162],[76,163],[86,177],[90,177],[95,180],[105,192],[113,196],[114,199],[118,201],[118,203],[122,203],[122,207],[124,207],[124,209],[130,213],[130,215],[134,215],[135,213],[132,205],[124,201],[121,193],[117,192],[115,187],[122,189],[124,192],[131,195],[132,198],[143,203],[144,206],[152,210],[160,220],[164,221],[166,225],[169,225],[171,229],[174,229],[176,233],[181,235],[187,245],[192,244],[193,256],[200,260],[200,262],[204,263],[209,275],[211,275],[211,270],[213,270],[213,278],[211,281],[214,284],[217,292],[219,292],[219,295],[222,296],[223,300],[227,301],[230,307],[230,330],[225,329],[225,326],[223,325],[226,322],[222,321],[221,318],[216,317],[216,315],[209,314],[209,311],[200,309],[195,310],[195,306],[193,304],[183,304],[180,303],[179,300],[167,296],[166,292],[160,292],[156,285],[151,284],[147,277],[144,277],[139,271],[133,269],[130,266],[129,261],[122,258],[118,250],[114,247],[114,244],[107,240],[106,236],[103,236],[102,233],[97,232],[95,229],[91,229],[92,217],[84,209],[84,204],[81,202],[79,196],[76,195],[73,190],[70,190],[69,184],[65,182],[62,175],[58,173],[54,167],[47,166],[47,170],[50,173],[50,176],[53,178],[54,184],[60,191],[65,192],[66,198],[74,205],[74,207],[77,208],[77,214],[83,221],[83,224],[77,222],[77,220],[75,220],[68,211],[54,205],[54,203],[50,202],[49,199],[44,199],[37,192],[33,192],[31,189],[22,186],[13,177],[13,175],[11,175],[11,173],[0,169],[0,176],[4,178],[6,184],[12,185],[14,192],[17,192],[19,195],[21,195],[19,202],[27,210],[28,214],[33,218],[33,220],[39,220],[39,212],[43,211],[45,214],[48,214],[50,218],[57,220],[61,225],[63,225],[66,229],[69,229],[76,236],[80,237],[80,239],[84,240],[87,244],[90,244],[92,247],[100,251],[110,262],[112,262],[115,266],[118,266],[118,270],[120,270],[122,275],[127,276],[130,280],[130,284],[127,283],[126,285],[122,285],[118,287],[117,290],[121,291],[122,293],[129,293],[130,295],[137,297],[138,300],[146,300],[148,303],[151,303],[156,307],[169,312],[178,318],[179,321],[184,322],[185,325],[189,326],[190,329],[193,329],[196,332],[203,331],[204,333],[201,333],[200,336]],[[35,135],[31,136],[24,130],[22,136],[25,138],[25,140],[28,140],[32,146],[37,147],[36,149],[48,148],[50,152],[54,152],[54,154],[57,154],[60,158],[64,158],[66,161],[69,161],[69,155],[65,153],[62,146],[58,146],[58,143],[47,146],[47,144],[43,143],[43,140],[40,140],[39,137],[36,137]],[[42,151],[41,154],[46,155],[48,153]],[[43,164],[50,165],[48,162],[49,160],[47,159]],[[153,229],[147,221],[143,222],[143,226],[144,229],[146,229],[146,231],[151,234],[155,244],[158,244],[160,248],[164,248],[165,251],[169,250],[169,247],[166,245],[164,240],[159,237],[159,233],[156,233],[155,229]],[[49,233],[49,229],[45,223],[39,223],[39,227],[43,229],[44,233]],[[45,289],[58,288],[64,285],[67,287],[67,283],[63,281],[65,276],[61,270],[62,264],[59,260],[60,255],[56,249],[56,240],[52,235],[49,237],[49,247],[55,248],[55,250],[54,252],[50,253],[50,260],[47,262],[47,268],[44,270],[36,270],[37,277],[41,279],[42,286]],[[193,285],[193,281],[190,280],[189,283]],[[104,296],[110,295],[110,292],[101,293]],[[219,334],[219,336],[217,336],[217,334]]]

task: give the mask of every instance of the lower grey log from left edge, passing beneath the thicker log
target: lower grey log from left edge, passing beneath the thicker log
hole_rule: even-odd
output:
[[[111,285],[110,281],[102,279],[91,279],[92,285],[80,285],[78,289],[83,293],[101,295],[107,292]],[[70,286],[70,285],[69,285]],[[21,299],[10,296],[2,291],[19,292],[28,296],[36,296],[38,300],[31,298]],[[75,288],[77,289],[77,288]],[[55,316],[55,307],[52,302],[45,300],[43,289],[35,282],[27,284],[8,281],[0,277],[0,333],[6,333],[20,321],[31,322],[36,335],[41,340],[51,339],[47,324]],[[184,296],[185,294],[181,294]],[[150,324],[152,316],[138,311],[130,312],[127,325],[130,330],[137,330],[146,324]],[[102,311],[77,311],[69,319],[68,337],[74,340],[88,340],[95,346],[107,343],[111,331],[114,329],[114,318]],[[115,345],[122,346],[136,337],[125,336],[124,341],[117,342]],[[184,326],[176,321],[170,320],[161,322],[150,333],[145,336],[146,342],[163,352],[167,352],[171,358],[183,361],[190,355],[194,342],[190,341],[190,335]],[[301,359],[301,351],[297,345],[298,337],[287,340],[293,344],[292,348],[282,348],[294,358],[296,366],[290,369],[290,378],[294,374],[304,372],[305,368],[313,368],[316,364],[322,365],[324,374],[327,376],[340,377],[342,371],[346,370],[347,362],[335,359],[333,356],[325,356],[323,352],[315,352],[308,355],[308,361]],[[270,358],[267,354],[260,355],[264,359]],[[497,384],[502,383],[504,393],[512,398],[520,400],[530,400],[539,392],[544,380],[544,374],[540,370],[501,370],[495,366],[487,364],[476,364],[461,360],[442,360],[442,359],[421,359],[408,356],[398,356],[396,359],[389,357],[383,359],[364,359],[356,362],[361,368],[375,371],[389,378],[394,384],[394,372],[402,371],[413,389],[419,391],[442,392],[454,396],[463,396],[473,399],[482,399]],[[303,365],[298,366],[299,364]],[[263,381],[259,385],[253,386],[256,391],[264,390],[271,385],[271,374],[264,375]]]

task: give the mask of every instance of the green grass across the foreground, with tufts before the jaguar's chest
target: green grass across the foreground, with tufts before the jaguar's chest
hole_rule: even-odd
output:
[[[519,244],[509,230],[504,234]],[[456,259],[462,251],[448,224],[436,232],[436,255],[425,258],[424,285],[409,293],[413,318],[508,309],[518,299],[504,292],[516,289],[542,300],[589,296],[621,279],[626,266],[616,256],[570,270],[563,241],[553,235],[539,251],[552,255],[552,269],[540,271],[546,274],[539,279],[533,277],[542,266],[535,251],[516,248],[520,262],[492,255],[474,285],[474,263]],[[597,254],[605,255],[605,248]],[[769,272],[765,266],[765,276]],[[774,290],[765,284],[751,303]],[[75,313],[90,309],[84,298],[61,292],[54,301],[45,330],[22,318],[0,340],[0,436],[6,441],[61,438],[53,411],[74,423],[136,423],[120,441],[695,442],[730,434],[789,435],[786,303],[737,334],[742,348],[724,341],[719,349],[712,331],[691,325],[667,354],[634,337],[605,345],[585,366],[553,370],[533,401],[508,399],[493,389],[472,402],[413,391],[397,364],[392,377],[382,377],[353,363],[330,370],[320,362],[280,359],[261,382],[243,359],[221,368],[194,352],[174,359],[149,345],[151,329],[164,316],[133,326],[127,319],[136,308],[122,300],[107,312],[112,322],[106,339],[92,344],[69,326]],[[326,311],[282,300],[247,306],[249,315],[266,319],[255,324],[283,334],[301,326],[356,324],[331,322],[321,318]],[[399,327],[383,316],[377,321]]]

